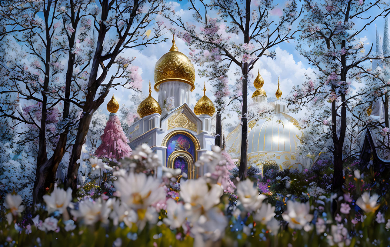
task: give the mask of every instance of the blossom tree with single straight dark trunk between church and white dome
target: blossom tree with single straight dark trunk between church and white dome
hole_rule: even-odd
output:
[[[242,101],[239,165],[239,177],[242,179],[246,176],[247,95],[248,80],[252,76],[250,71],[262,55],[274,57],[272,48],[294,38],[295,32],[291,30],[291,25],[300,17],[302,9],[297,11],[294,0],[286,2],[284,6],[275,5],[273,1],[212,0],[206,3],[203,0],[193,0],[190,1],[189,10],[193,13],[197,25],[187,23],[175,13],[171,13],[169,18],[178,27],[178,35],[191,47],[192,56],[197,57],[195,61],[199,64],[209,63],[208,73],[205,72],[205,75],[215,82],[217,89],[223,89],[216,93],[217,101],[227,96],[226,69],[237,68],[240,72],[238,85],[241,85],[241,90],[231,97],[240,98]],[[207,16],[208,12],[216,12],[216,17],[210,18]],[[210,72],[216,69],[218,71]],[[218,102],[216,105],[217,108],[223,106]]]

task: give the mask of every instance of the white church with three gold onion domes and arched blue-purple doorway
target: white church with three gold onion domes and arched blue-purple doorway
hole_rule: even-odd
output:
[[[138,106],[140,119],[129,127],[132,149],[148,144],[159,155],[163,166],[180,168],[190,179],[204,174],[205,168],[195,167],[195,162],[211,150],[215,142],[211,133],[215,107],[204,88],[204,96],[191,109],[188,105],[194,89],[194,66],[178,51],[172,39],[172,48],[154,68],[154,90],[158,92],[158,100],[152,98],[149,83],[149,96]],[[164,107],[168,100],[173,109]],[[158,169],[157,176],[160,175],[161,169]]]

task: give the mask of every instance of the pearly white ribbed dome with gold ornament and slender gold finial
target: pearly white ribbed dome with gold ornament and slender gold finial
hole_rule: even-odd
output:
[[[281,91],[278,88],[277,96]],[[279,169],[303,169],[310,165],[298,150],[303,132],[294,117],[286,113],[283,101],[275,102],[275,114],[271,119],[254,118],[248,121],[248,165],[276,163]],[[227,151],[232,158],[240,158],[241,125],[229,133]]]

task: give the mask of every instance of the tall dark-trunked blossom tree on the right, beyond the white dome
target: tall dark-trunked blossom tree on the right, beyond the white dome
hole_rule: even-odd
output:
[[[365,61],[378,59],[370,55],[372,46],[365,51],[360,35],[374,20],[386,16],[389,9],[380,0],[305,0],[304,7],[307,14],[300,22],[302,34],[297,49],[318,71],[316,78],[308,78],[301,87],[293,88],[290,100],[297,103],[298,108],[312,109],[328,102],[330,130],[322,136],[332,139],[333,188],[341,189],[347,122],[352,112],[350,102],[358,96],[351,92],[351,82],[359,80],[362,74],[370,74],[364,68]],[[377,14],[372,15],[369,11],[377,11]],[[364,20],[363,24],[356,26],[361,20]],[[328,121],[328,118],[322,121]]]

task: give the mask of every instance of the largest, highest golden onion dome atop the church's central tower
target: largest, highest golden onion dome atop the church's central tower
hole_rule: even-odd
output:
[[[195,89],[195,68],[191,60],[179,52],[174,38],[169,52],[165,53],[154,67],[154,90],[159,91],[159,85],[167,81],[189,84],[191,92]]]

